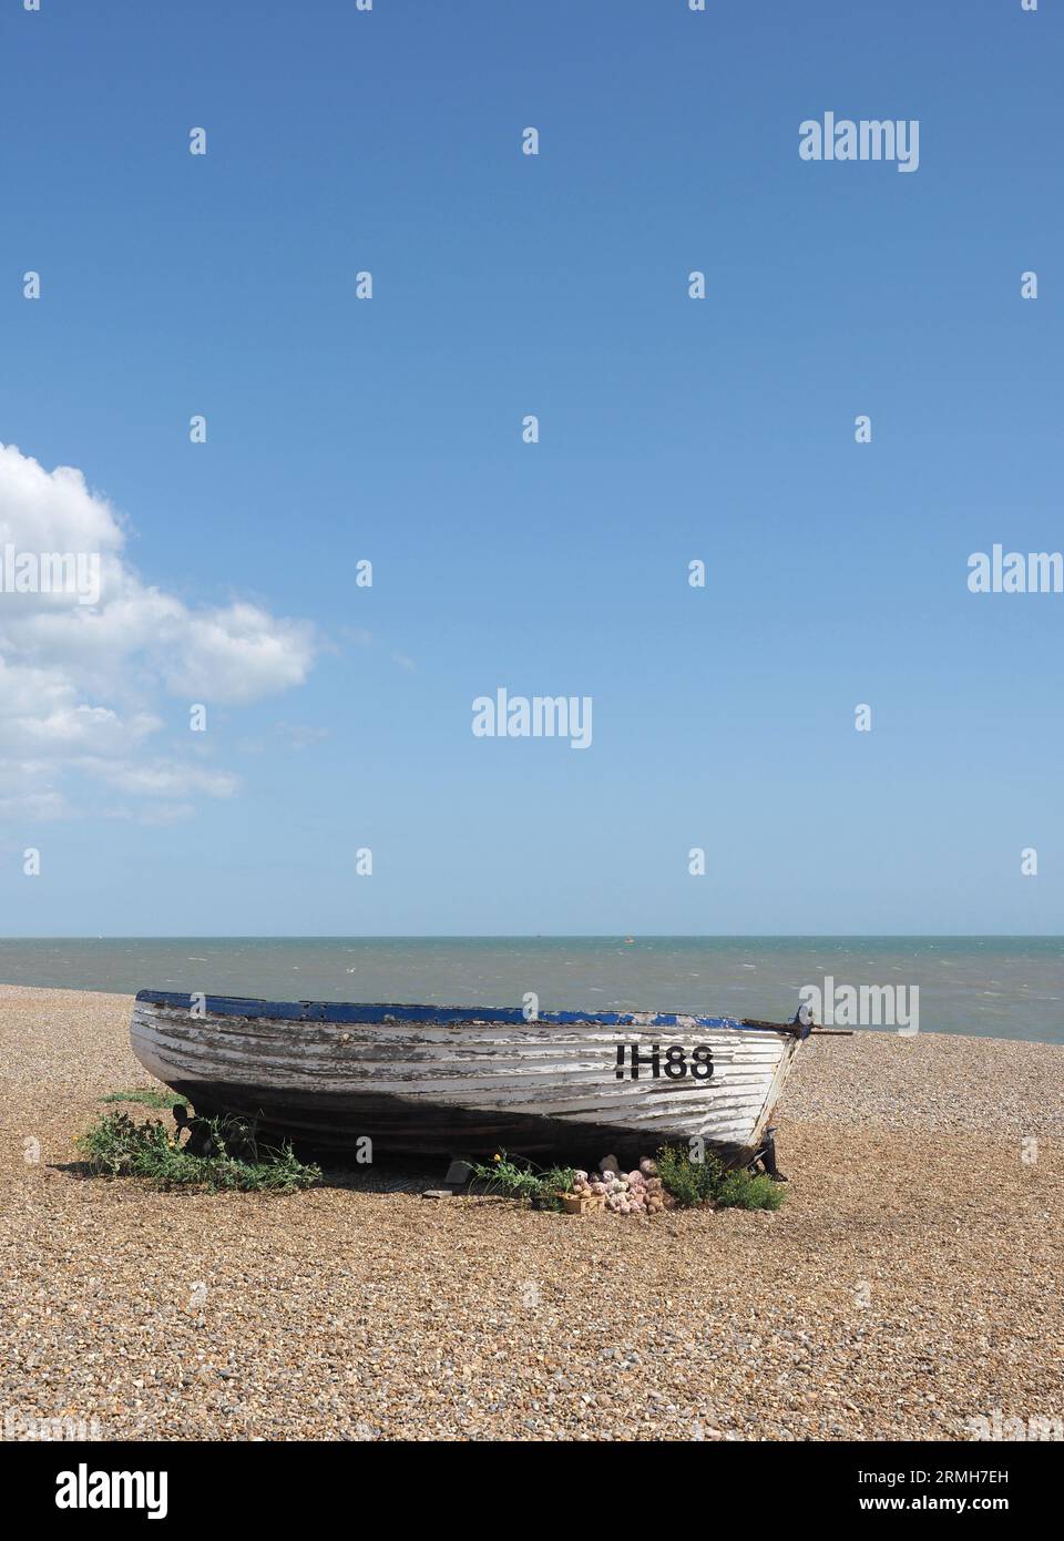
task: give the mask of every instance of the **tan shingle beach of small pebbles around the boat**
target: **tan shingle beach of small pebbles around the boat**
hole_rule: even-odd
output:
[[[86,1179],[122,995],[0,988],[0,1415],[117,1439],[970,1439],[1064,1416],[1064,1048],[810,1042],[778,1214]],[[40,1159],[32,1160],[38,1142]],[[31,1159],[28,1159],[31,1157]]]

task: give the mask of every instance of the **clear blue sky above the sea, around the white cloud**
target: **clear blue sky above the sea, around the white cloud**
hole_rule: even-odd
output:
[[[228,792],[166,823],[32,772],[63,806],[0,823],[6,934],[1064,931],[1064,596],[965,586],[1064,544],[1056,8],[6,0],[0,32],[0,441],[77,467],[189,615],[316,635],[259,700],[79,681],[156,715],[126,769]],[[919,170],[802,162],[828,109],[918,119]],[[474,738],[499,686],[590,695],[591,749]]]

